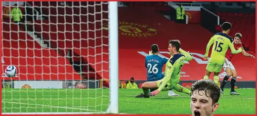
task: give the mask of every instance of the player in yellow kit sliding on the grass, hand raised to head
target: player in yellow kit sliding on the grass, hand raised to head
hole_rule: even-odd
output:
[[[141,93],[135,98],[149,98],[149,89],[157,89],[151,92],[151,95],[157,95],[160,91],[176,90],[191,95],[191,91],[178,84],[180,79],[180,70],[184,65],[184,61],[191,61],[192,56],[180,48],[179,40],[169,40],[168,48],[171,58],[166,63],[165,77],[158,81],[148,81],[142,84],[144,93]],[[181,53],[178,53],[178,52]]]

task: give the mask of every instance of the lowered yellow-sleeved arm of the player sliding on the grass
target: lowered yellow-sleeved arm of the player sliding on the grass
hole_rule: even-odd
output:
[[[165,70],[167,72],[165,72],[165,77],[163,78],[162,85],[158,88],[159,91],[161,91],[165,87],[165,85],[168,83],[168,81],[171,79],[171,75],[173,73],[174,67],[170,62],[168,62]]]

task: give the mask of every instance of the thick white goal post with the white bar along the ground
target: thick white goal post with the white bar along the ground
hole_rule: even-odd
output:
[[[119,45],[118,1],[108,1],[109,27],[109,106],[106,112],[58,112],[58,113],[1,113],[2,115],[72,115],[72,114],[119,114]]]

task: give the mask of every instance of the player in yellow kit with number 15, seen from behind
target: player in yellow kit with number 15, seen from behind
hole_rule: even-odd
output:
[[[233,54],[238,54],[242,52],[242,47],[238,50],[234,48],[234,45],[232,44],[233,38],[228,36],[231,27],[232,26],[229,22],[224,22],[222,24],[222,33],[216,33],[207,44],[206,53],[204,55],[205,60],[207,60],[209,49],[211,45],[214,43],[212,54],[206,67],[204,79],[209,79],[211,73],[214,72],[214,82],[218,83],[218,74],[221,71],[222,66],[225,62],[225,54],[227,52],[228,47],[230,47],[231,52]]]

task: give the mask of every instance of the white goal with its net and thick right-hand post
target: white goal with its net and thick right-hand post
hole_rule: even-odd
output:
[[[117,10],[117,2],[2,1],[2,114],[117,114]],[[4,75],[9,65],[15,77]]]

